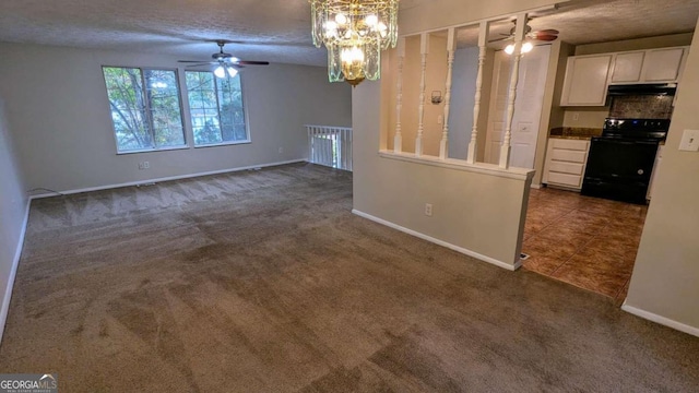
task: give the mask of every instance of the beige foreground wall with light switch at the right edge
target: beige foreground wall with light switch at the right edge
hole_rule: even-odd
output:
[[[625,308],[699,335],[699,153],[680,152],[699,129],[699,23],[683,75]]]

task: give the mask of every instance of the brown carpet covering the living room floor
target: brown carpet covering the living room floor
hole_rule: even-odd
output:
[[[696,392],[699,338],[291,165],[35,201],[0,372],[61,392]]]

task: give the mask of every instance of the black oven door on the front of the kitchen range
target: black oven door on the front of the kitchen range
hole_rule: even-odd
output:
[[[645,203],[659,143],[660,140],[593,138],[581,193]]]

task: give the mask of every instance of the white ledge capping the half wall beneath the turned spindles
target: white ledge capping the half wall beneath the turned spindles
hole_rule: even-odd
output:
[[[495,164],[475,163],[469,164],[463,159],[447,158],[440,159],[435,156],[423,155],[416,157],[415,153],[394,153],[393,151],[382,150],[379,151],[379,156],[383,158],[398,159],[408,163],[431,165],[442,168],[463,170],[476,174],[484,174],[497,177],[503,177],[509,179],[518,179],[522,181],[531,180],[534,177],[534,169],[526,168],[508,168],[503,169]]]

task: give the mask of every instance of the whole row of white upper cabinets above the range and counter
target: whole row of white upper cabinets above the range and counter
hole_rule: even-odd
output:
[[[561,106],[604,106],[611,84],[676,83],[688,47],[568,58]]]

